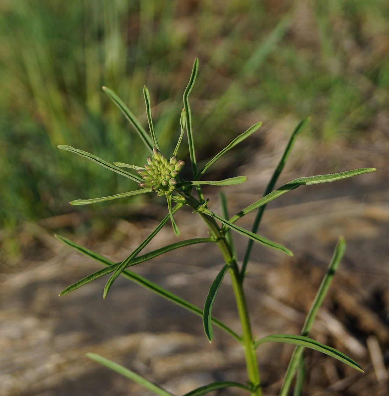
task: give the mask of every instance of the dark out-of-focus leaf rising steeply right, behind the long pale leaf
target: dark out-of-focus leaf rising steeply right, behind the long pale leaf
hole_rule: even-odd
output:
[[[282,153],[281,159],[278,162],[278,165],[276,166],[276,168],[273,172],[273,176],[271,177],[271,179],[265,189],[265,193],[263,194],[263,196],[266,196],[267,194],[270,194],[273,191],[273,188],[276,184],[278,176],[282,172],[282,169],[284,169],[286,160],[288,159],[289,154],[292,152],[292,148],[294,146],[294,142],[296,141],[297,135],[304,129],[304,127],[307,125],[308,121],[309,121],[309,118],[305,118],[304,120],[300,121],[299,124],[297,125],[297,127],[294,129],[292,135],[289,138],[288,144],[286,145],[285,150]],[[263,212],[265,211],[265,208],[266,208],[266,205],[262,205],[258,208],[253,226],[251,228],[251,232],[254,232],[254,234],[256,234],[258,231],[259,223],[261,222],[262,215],[263,215]],[[246,252],[244,253],[242,268],[240,269],[240,278],[242,280],[244,279],[244,274],[246,272],[247,263],[248,263],[248,260],[250,259],[250,253],[251,253],[251,249],[253,247],[253,243],[254,243],[254,241],[252,239],[250,239],[248,241]]]

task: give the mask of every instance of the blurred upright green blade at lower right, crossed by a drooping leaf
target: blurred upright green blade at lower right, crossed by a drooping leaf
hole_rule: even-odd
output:
[[[320,306],[324,301],[324,298],[327,295],[328,289],[331,286],[332,279],[334,278],[334,274],[338,269],[341,259],[345,253],[346,246],[346,241],[343,236],[339,237],[339,241],[338,244],[336,244],[334,255],[332,256],[330,265],[328,266],[327,272],[324,275],[322,283],[320,284],[320,287],[316,293],[315,299],[313,300],[313,303],[311,305],[311,309],[309,310],[309,313],[305,318],[304,326],[301,330],[302,336],[307,336],[309,334],[309,331],[311,330],[311,327],[317,315],[317,311],[319,310]],[[296,373],[296,369],[299,366],[300,360],[303,358],[303,353],[303,346],[297,346],[294,349],[292,357],[290,358],[288,369],[285,373],[284,382],[282,383],[280,396],[288,395],[294,374]]]

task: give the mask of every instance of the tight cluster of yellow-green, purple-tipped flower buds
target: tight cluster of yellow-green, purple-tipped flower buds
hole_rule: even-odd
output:
[[[139,187],[151,188],[153,191],[158,190],[158,196],[170,195],[177,185],[177,176],[183,168],[185,162],[177,161],[177,156],[166,159],[164,154],[154,147],[153,156],[147,158],[145,170],[138,170],[142,176]]]

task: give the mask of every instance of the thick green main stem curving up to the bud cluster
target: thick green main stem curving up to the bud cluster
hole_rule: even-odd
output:
[[[225,262],[231,266],[229,268],[229,274],[231,276],[233,291],[236,300],[236,307],[238,310],[240,324],[242,326],[241,344],[244,350],[248,378],[252,386],[251,394],[252,396],[261,396],[262,389],[259,377],[259,367],[256,350],[254,348],[254,341],[251,331],[250,318],[247,310],[246,297],[244,295],[243,285],[239,275],[239,267],[233,255],[233,249],[225,238],[225,235],[221,231],[220,227],[217,225],[215,219],[201,212],[200,202],[196,200],[193,196],[186,195],[181,190],[176,191],[179,195],[186,199],[186,203],[191,206],[191,208],[195,209],[196,211],[198,210],[198,214],[208,225],[212,236],[215,238],[216,244],[219,247]]]

